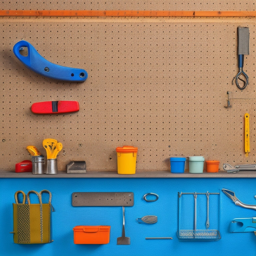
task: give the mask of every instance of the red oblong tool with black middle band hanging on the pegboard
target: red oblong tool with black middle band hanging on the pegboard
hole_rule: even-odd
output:
[[[72,100],[35,102],[31,106],[31,111],[34,114],[61,114],[78,110],[78,101]]]

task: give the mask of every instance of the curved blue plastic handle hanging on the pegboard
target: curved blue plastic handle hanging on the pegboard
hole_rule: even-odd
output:
[[[24,47],[28,49],[26,56],[20,53]],[[27,41],[22,40],[16,43],[13,47],[13,52],[27,68],[45,77],[74,82],[85,81],[88,77],[84,69],[64,67],[49,62]]]

